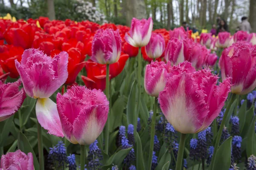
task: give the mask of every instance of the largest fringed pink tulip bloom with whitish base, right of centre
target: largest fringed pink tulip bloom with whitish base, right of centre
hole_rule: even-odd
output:
[[[210,70],[195,71],[191,63],[177,66],[159,94],[160,108],[167,121],[180,133],[198,133],[218,116],[230,92],[230,79],[216,85]]]

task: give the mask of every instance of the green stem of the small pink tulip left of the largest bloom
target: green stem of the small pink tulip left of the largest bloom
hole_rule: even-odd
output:
[[[155,124],[157,116],[157,98],[154,99],[154,111],[151,121],[151,134],[150,134],[150,147],[149,147],[149,156],[148,156],[148,170],[151,170],[153,150],[154,150],[154,134],[155,134]]]

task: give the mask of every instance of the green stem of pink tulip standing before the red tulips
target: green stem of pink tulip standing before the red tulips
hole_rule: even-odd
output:
[[[106,68],[106,96],[107,99],[110,100],[109,96],[109,64],[107,64]],[[111,106],[109,106],[109,113],[110,113]],[[106,129],[105,129],[105,152],[108,154],[108,137],[109,137],[109,114],[108,119],[106,123]]]

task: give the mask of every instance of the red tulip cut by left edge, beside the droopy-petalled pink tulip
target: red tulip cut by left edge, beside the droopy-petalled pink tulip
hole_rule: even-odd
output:
[[[1,45],[5,46],[5,45]],[[2,47],[3,48],[3,47]],[[0,65],[6,73],[10,72],[10,77],[17,78],[19,73],[15,67],[15,59],[19,62],[21,60],[21,55],[23,54],[24,49],[21,47],[11,46],[8,51],[0,53]]]

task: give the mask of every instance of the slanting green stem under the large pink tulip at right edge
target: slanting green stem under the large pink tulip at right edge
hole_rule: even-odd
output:
[[[209,170],[213,170],[213,168],[214,168],[214,161],[215,161],[216,152],[218,150],[218,146],[219,146],[219,143],[220,143],[220,140],[221,140],[222,130],[223,130],[224,124],[226,122],[227,115],[228,115],[228,112],[230,110],[230,107],[231,107],[231,105],[232,105],[232,103],[234,102],[235,99],[236,99],[236,94],[232,94],[231,98],[230,98],[230,101],[227,104],[227,108],[226,108],[226,111],[224,113],[223,119],[221,121],[220,128],[218,130],[218,134],[217,134],[217,138],[216,138],[216,142],[215,142],[215,146],[214,146],[214,152],[213,152],[213,155],[212,155],[212,161],[211,161]]]

